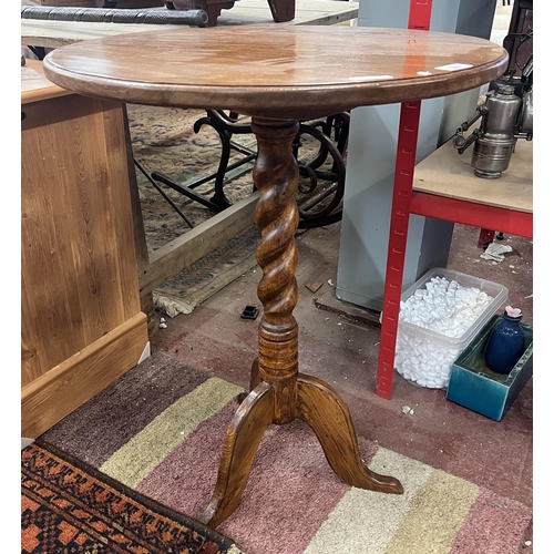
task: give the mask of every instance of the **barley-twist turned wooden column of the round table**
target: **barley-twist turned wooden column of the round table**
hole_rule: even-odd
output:
[[[298,300],[295,271],[298,247],[298,165],[293,156],[297,121],[253,119],[258,156],[253,177],[259,191],[254,220],[261,238],[256,260],[263,277],[258,298],[264,306],[259,324],[258,373],[271,384],[275,394],[274,423],[288,423],[296,417],[298,376],[298,325],[293,310]],[[256,368],[253,370],[256,381]]]

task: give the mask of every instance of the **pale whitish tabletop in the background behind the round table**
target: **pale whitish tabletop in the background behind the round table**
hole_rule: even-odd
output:
[[[230,10],[223,10],[217,18],[218,27],[278,24],[330,25],[358,17],[358,2],[337,0],[296,0],[293,21],[275,23],[267,0],[237,0]],[[50,21],[21,19],[21,43],[31,47],[60,48],[73,42],[101,39],[115,34],[188,29],[188,25],[99,23],[88,21]]]

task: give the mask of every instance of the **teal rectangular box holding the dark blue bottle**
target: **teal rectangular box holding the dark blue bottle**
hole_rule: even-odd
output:
[[[484,362],[489,334],[502,316],[494,316],[452,366],[447,399],[500,421],[533,375],[533,328],[522,324],[525,351],[507,375],[491,371]]]

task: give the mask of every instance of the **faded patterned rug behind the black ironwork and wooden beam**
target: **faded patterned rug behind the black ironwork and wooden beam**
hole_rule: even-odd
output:
[[[207,124],[201,125],[197,133],[194,131],[195,123],[206,116],[205,111],[127,104],[127,114],[134,158],[148,175],[161,172],[177,183],[191,185],[217,171],[222,153],[217,132]],[[248,123],[249,120],[242,119],[239,122]],[[232,138],[240,147],[256,151],[254,134],[235,134]],[[300,162],[310,160],[318,152],[319,143],[308,134],[302,135],[301,144],[298,153]],[[232,150],[229,164],[240,160],[244,155]],[[331,163],[329,156],[321,170],[329,170]],[[254,162],[247,162],[226,174],[224,192],[232,204],[254,191],[253,166]],[[137,167],[135,170],[146,243],[152,253],[191,230],[191,226],[143,172]],[[305,181],[307,178],[301,178],[300,185]],[[211,198],[214,183],[215,177],[195,186],[194,191]],[[161,186],[194,227],[215,215],[208,207],[166,185]],[[307,191],[309,184],[305,183],[299,188]],[[298,202],[301,204],[310,199],[310,194],[299,193]],[[198,304],[256,266],[258,238],[259,233],[253,222],[250,228],[226,245],[160,285],[153,293],[155,307],[171,317],[179,312],[189,314]]]

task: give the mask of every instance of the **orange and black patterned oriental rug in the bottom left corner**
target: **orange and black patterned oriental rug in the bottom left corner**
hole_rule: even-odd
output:
[[[21,453],[21,552],[240,554],[216,531],[39,442]]]

